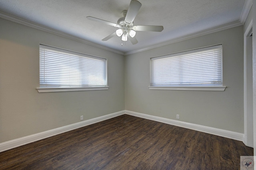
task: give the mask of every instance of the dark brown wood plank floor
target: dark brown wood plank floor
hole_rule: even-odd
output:
[[[0,169],[238,170],[241,141],[121,115],[0,153]]]

